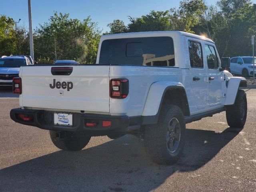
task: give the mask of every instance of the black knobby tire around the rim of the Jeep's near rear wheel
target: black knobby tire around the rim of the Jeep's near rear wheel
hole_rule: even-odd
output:
[[[176,118],[180,124],[180,143],[174,152],[167,147],[168,124]],[[176,105],[163,106],[158,123],[144,128],[144,146],[151,160],[157,164],[171,165],[180,158],[185,144],[186,124],[182,110]]]

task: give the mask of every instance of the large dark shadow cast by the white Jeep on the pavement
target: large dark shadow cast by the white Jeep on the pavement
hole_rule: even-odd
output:
[[[150,162],[142,143],[128,135],[80,152],[60,150],[0,170],[0,191],[150,191],[176,171],[201,168],[239,132],[187,129],[173,166]]]

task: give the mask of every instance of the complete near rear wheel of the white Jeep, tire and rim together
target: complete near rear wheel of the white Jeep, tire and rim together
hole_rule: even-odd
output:
[[[158,123],[144,130],[148,156],[157,164],[174,164],[182,154],[185,132],[186,124],[182,110],[176,105],[164,106]]]

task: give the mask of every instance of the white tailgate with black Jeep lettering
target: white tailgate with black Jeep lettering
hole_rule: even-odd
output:
[[[25,66],[20,77],[23,107],[109,112],[109,66]]]

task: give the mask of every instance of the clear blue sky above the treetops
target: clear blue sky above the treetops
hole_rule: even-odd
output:
[[[128,16],[140,17],[150,10],[164,11],[178,7],[180,0],[31,0],[32,27],[48,22],[54,11],[69,13],[71,18],[83,20],[91,16],[98,22],[102,32],[109,31],[107,25],[115,19],[127,25]],[[217,0],[206,0],[206,4],[216,4]],[[256,0],[252,0],[256,3]],[[18,25],[28,27],[28,0],[0,0],[0,14],[9,16]]]

